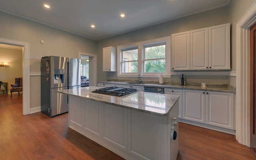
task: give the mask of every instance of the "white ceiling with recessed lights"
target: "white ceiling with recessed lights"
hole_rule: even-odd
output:
[[[0,10],[93,40],[228,5],[230,0],[0,0]],[[49,4],[50,9],[44,8]],[[126,14],[121,18],[120,13]],[[90,26],[94,24],[95,28]]]

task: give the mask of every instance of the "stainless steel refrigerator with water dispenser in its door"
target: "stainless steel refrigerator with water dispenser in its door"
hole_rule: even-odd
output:
[[[41,112],[50,117],[68,112],[68,95],[57,91],[80,86],[80,59],[42,57]]]

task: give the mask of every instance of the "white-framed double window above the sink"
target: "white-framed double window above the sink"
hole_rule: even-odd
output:
[[[118,77],[165,77],[171,74],[170,36],[117,47]]]

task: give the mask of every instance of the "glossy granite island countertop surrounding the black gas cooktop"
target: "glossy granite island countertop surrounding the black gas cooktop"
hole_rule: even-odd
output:
[[[167,116],[172,106],[177,102],[179,98],[179,96],[176,95],[140,91],[121,97],[92,92],[93,90],[99,88],[100,87],[89,86],[67,90],[58,90],[58,92],[81,98],[88,98],[94,101],[137,110],[156,116]]]

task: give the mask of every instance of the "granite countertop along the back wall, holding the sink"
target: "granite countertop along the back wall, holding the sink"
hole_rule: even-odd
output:
[[[132,85],[132,86],[147,86],[147,87],[163,87],[163,88],[177,88],[177,89],[188,89],[188,90],[207,90],[207,91],[217,91],[217,92],[231,92],[236,93],[236,90],[228,87],[222,86],[208,86],[208,87],[201,87],[201,86],[180,86],[180,85],[172,85],[172,84],[130,84],[127,82],[115,82],[115,81],[106,81],[106,82],[98,82],[98,83],[108,83],[108,84],[120,84],[120,85]]]

